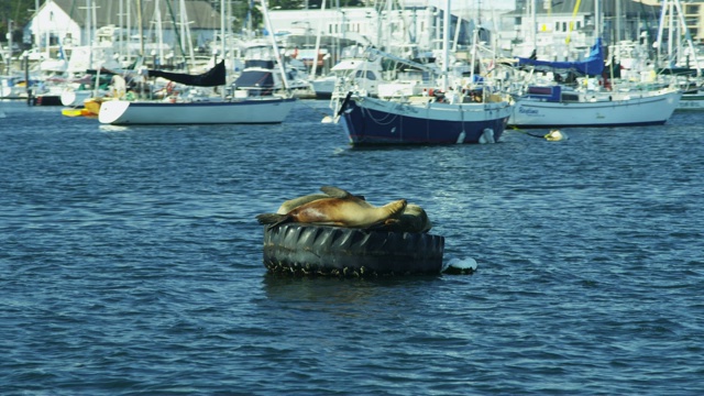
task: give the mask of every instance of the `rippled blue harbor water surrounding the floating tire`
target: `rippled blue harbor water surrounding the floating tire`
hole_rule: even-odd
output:
[[[374,150],[326,101],[279,125],[2,113],[3,395],[704,392],[704,113]],[[267,275],[254,217],[323,185],[422,206],[477,271]]]

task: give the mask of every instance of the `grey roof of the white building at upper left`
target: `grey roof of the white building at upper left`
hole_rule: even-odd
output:
[[[128,0],[130,1],[130,0]],[[123,2],[122,12],[127,14],[127,3]],[[86,25],[86,1],[85,0],[53,0],[57,7],[59,7],[66,14],[68,14],[80,26]],[[96,20],[94,25],[106,26],[109,24],[120,24],[120,1],[116,0],[92,0],[96,9]],[[131,1],[130,9],[130,24],[132,26],[138,25],[138,10],[136,4],[142,3],[142,26],[148,29],[148,26],[156,20],[155,1]],[[42,8],[46,7],[46,2]],[[175,0],[162,0],[158,1],[160,12],[162,15],[162,23],[164,26],[169,26],[173,21],[180,20],[179,1]],[[216,11],[208,1],[191,1],[186,0],[186,15],[187,21],[190,22],[190,29],[220,29],[220,13]],[[170,7],[169,7],[170,6]],[[41,9],[40,9],[41,12]],[[123,24],[127,26],[127,15],[123,16]]]

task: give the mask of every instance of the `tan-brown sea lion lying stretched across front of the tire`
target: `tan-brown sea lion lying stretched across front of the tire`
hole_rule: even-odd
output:
[[[285,215],[263,213],[256,219],[261,224],[268,224],[270,229],[287,222],[367,229],[397,219],[407,204],[399,199],[375,207],[341,188],[326,186],[321,190],[329,197],[311,200]]]

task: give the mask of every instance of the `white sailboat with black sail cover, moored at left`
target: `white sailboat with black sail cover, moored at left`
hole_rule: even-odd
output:
[[[189,87],[224,87],[224,59],[201,75],[148,70],[152,77]],[[280,123],[295,105],[295,98],[277,94],[249,96],[237,89],[226,97],[180,97],[164,100],[107,100],[100,106],[98,120],[109,124],[222,124]]]

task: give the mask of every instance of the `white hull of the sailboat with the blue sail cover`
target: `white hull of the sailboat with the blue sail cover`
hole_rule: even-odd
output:
[[[548,101],[516,98],[508,119],[519,128],[619,127],[663,124],[680,103],[682,92],[663,89],[658,92],[631,92],[620,99],[608,96],[593,101]]]

